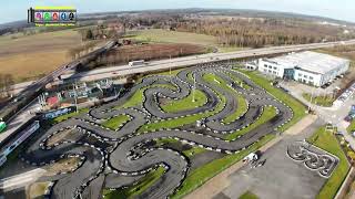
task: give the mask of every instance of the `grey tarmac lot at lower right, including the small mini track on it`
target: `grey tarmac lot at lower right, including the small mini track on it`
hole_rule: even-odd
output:
[[[262,155],[260,161],[265,161],[262,167],[253,168],[245,165],[229,176],[230,186],[213,198],[237,198],[246,191],[263,199],[316,198],[320,189],[338,164],[337,157],[304,142],[323,125],[324,122],[317,119],[300,135],[285,135],[281,142]],[[302,150],[304,153],[301,153]],[[320,164],[323,163],[320,161],[323,156],[332,159],[332,161],[325,161],[329,165]],[[327,172],[324,172],[325,170]]]

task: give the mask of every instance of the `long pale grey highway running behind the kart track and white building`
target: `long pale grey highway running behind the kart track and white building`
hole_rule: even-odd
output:
[[[94,81],[94,80],[102,80],[102,78],[111,78],[126,74],[134,74],[134,73],[144,73],[150,71],[158,71],[158,70],[169,70],[174,67],[182,67],[182,66],[190,66],[190,65],[197,65],[203,64],[206,62],[217,62],[217,61],[229,61],[233,59],[243,59],[243,57],[252,57],[252,56],[267,56],[272,54],[278,53],[287,53],[287,52],[296,52],[296,51],[304,51],[304,50],[314,50],[320,48],[331,48],[334,45],[351,45],[355,44],[355,40],[344,41],[344,42],[327,42],[327,43],[314,43],[314,44],[301,44],[301,45],[284,45],[284,46],[272,46],[272,48],[262,48],[262,49],[253,49],[253,50],[243,50],[236,52],[229,52],[229,53],[209,53],[202,55],[193,55],[193,56],[184,56],[184,57],[175,57],[171,60],[160,60],[160,61],[152,61],[144,66],[129,66],[129,65],[118,65],[111,66],[105,69],[98,69],[92,70],[89,72],[78,73],[74,74],[70,69],[67,69],[70,74],[62,75],[63,78],[72,78],[72,80],[82,80],[82,81]],[[62,70],[55,72],[54,77],[59,76],[59,74],[63,74],[63,66]],[[32,83],[21,83],[14,86],[14,93],[19,93],[24,88],[28,88],[29,85]]]

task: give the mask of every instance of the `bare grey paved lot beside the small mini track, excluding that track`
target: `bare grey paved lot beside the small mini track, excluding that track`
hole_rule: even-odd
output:
[[[286,149],[294,142],[308,137],[321,125],[322,123],[317,121],[300,135],[285,136],[262,156],[262,160],[266,159],[264,166],[257,168],[244,166],[229,177],[230,187],[214,199],[239,198],[246,191],[262,199],[315,198],[326,178],[307,169],[304,164],[292,160],[286,155]]]

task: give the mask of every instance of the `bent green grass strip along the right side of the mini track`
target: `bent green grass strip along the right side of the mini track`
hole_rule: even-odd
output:
[[[313,145],[335,155],[341,160],[333,171],[331,178],[328,178],[325,185],[323,185],[323,188],[316,197],[317,199],[334,198],[349,170],[347,158],[335,135],[331,132],[326,132],[325,127],[320,128],[307,140]]]

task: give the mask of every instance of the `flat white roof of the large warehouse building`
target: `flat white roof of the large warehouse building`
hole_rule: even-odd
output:
[[[276,62],[285,67],[301,67],[302,70],[325,74],[328,71],[337,69],[339,65],[348,63],[346,59],[332,56],[328,54],[305,51],[301,53],[292,53],[284,56],[268,59],[268,61]]]

